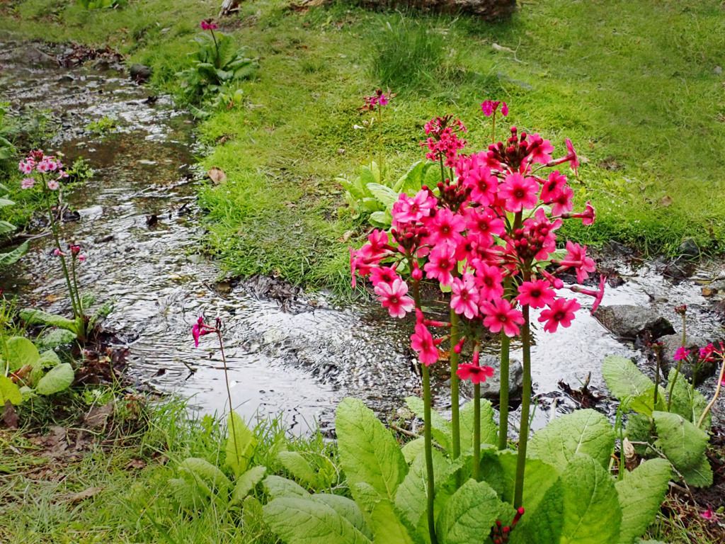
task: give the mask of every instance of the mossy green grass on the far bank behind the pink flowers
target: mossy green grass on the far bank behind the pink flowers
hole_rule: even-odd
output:
[[[371,13],[348,4],[295,12],[282,0],[241,4],[225,20],[260,58],[258,79],[240,83],[244,104],[219,107],[199,125],[216,144],[204,165],[229,181],[202,189],[207,245],[240,274],[273,273],[312,287],[347,284],[347,244],[364,225],[341,208],[341,173],[368,162],[382,139],[390,176],[423,158],[423,123],[451,113],[468,126],[471,149],[487,144],[484,99],[508,102],[500,123],[537,131],[586,157],[581,206],[591,228],[581,242],[609,239],[675,255],[694,238],[724,247],[725,18],[716,0],[526,3],[509,22]],[[198,21],[216,3],[149,0],[119,10],[13,4],[0,26],[24,36],[105,43],[154,68],[172,90]],[[513,52],[494,48],[494,44]],[[357,107],[375,88],[397,96],[382,131],[355,130]],[[339,150],[344,149],[344,153]],[[348,239],[339,242],[339,239]]]

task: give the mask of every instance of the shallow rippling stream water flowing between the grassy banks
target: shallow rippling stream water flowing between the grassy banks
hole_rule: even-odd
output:
[[[191,339],[191,326],[203,314],[207,321],[223,321],[233,403],[247,419],[281,413],[294,432],[305,432],[315,421],[331,427],[334,407],[347,395],[390,417],[403,397],[419,393],[407,347],[410,331],[375,304],[340,306],[305,294],[288,294],[280,302],[265,294],[269,284],[279,287],[268,279],[218,283],[219,269],[199,255],[204,228],[195,191],[203,181],[194,162],[201,150],[191,119],[169,97],[149,100],[152,91],[131,83],[113,63],[101,65],[104,70],[62,69],[51,62],[39,68],[33,64],[37,59],[29,62],[22,53],[25,46],[0,38],[0,96],[54,112],[62,128],[43,151],[62,152],[67,164],[85,157],[94,169],[90,180],[64,195],[80,219],[65,223],[62,236],[88,255],[80,267],[81,289],[99,302],[114,302],[104,326],[125,338],[130,373],[139,384],[192,397],[200,411],[225,409],[215,337],[202,338],[199,348]],[[102,119],[113,120],[116,128],[102,137],[86,130]],[[652,265],[623,271],[627,281],[608,289],[603,304],[654,306],[667,317],[681,303],[705,307],[692,282],[674,286]],[[708,277],[719,274],[703,271]],[[0,284],[24,303],[69,313],[47,236],[33,242],[30,254]],[[591,307],[591,298],[577,296],[583,308]],[[713,337],[719,325],[708,319],[703,328]],[[605,355],[642,359],[584,309],[569,329],[534,334],[537,393],[558,391],[560,380],[576,389],[587,374],[593,387],[605,390],[600,371]],[[447,390],[442,385],[436,392],[436,403],[445,409]],[[549,417],[539,411],[534,426]]]

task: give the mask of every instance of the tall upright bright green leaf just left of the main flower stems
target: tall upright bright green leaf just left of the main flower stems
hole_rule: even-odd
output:
[[[361,400],[344,399],[335,421],[341,464],[350,487],[364,482],[392,501],[407,473],[397,441]]]

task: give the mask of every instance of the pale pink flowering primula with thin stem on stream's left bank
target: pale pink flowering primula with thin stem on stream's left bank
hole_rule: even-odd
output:
[[[86,260],[86,255],[80,252],[76,244],[63,244],[60,239],[58,220],[55,217],[54,205],[58,202],[58,194],[62,181],[67,178],[63,164],[52,155],[44,155],[41,151],[33,151],[18,164],[18,168],[25,176],[21,182],[22,189],[41,191],[43,202],[48,214],[48,221],[55,242],[53,254],[59,258],[65,284],[68,288],[73,318],[53,316],[40,310],[22,310],[21,317],[28,324],[45,324],[58,326],[61,329],[72,331],[80,342],[85,341],[88,331],[88,319],[84,313],[84,300],[78,292],[78,278],[76,269]]]

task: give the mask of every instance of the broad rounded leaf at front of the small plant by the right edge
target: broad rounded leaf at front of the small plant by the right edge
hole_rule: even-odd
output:
[[[657,442],[655,445],[679,471],[699,466],[708,447],[708,433],[676,413],[653,412]]]

